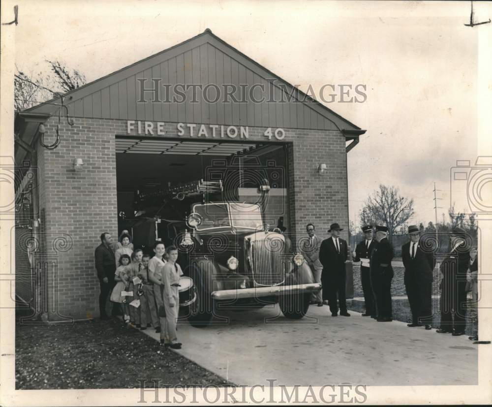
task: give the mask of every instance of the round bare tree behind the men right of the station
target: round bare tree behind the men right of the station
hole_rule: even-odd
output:
[[[379,190],[375,190],[364,202],[363,212],[366,220],[388,227],[391,241],[396,229],[413,216],[413,199],[400,196],[396,187],[380,184]],[[360,220],[363,222],[362,218]]]

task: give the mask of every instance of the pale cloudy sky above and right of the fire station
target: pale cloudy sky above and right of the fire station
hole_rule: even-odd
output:
[[[367,130],[348,154],[356,224],[379,184],[414,199],[408,224],[434,221],[434,182],[442,221],[453,199],[451,168],[477,156],[478,32],[492,35],[492,24],[465,27],[469,1],[16,4],[15,60],[26,72],[47,72],[44,61],[59,59],[92,81],[210,28],[303,91],[365,85],[364,103],[325,103]],[[490,4],[475,4],[475,20],[491,16]]]

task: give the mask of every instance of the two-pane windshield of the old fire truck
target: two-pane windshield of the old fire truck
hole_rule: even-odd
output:
[[[258,205],[246,203],[211,203],[195,205],[193,211],[202,217],[202,223],[197,231],[217,227],[239,227],[254,230],[263,229],[261,209]],[[229,219],[231,214],[232,225]]]

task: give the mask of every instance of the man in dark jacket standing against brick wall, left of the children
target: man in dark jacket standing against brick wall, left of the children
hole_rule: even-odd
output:
[[[101,234],[101,244],[95,248],[95,268],[97,270],[97,278],[99,279],[100,294],[99,294],[99,315],[101,319],[111,319],[106,314],[106,300],[111,290],[115,286],[115,253],[111,248],[112,237],[109,233]],[[114,307],[112,314],[116,314],[117,307]]]

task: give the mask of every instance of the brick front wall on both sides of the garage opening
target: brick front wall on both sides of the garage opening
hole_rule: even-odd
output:
[[[177,136],[176,124],[166,124],[164,129],[166,136]],[[55,130],[56,119],[52,118],[46,124],[45,142],[54,141]],[[264,131],[265,128],[249,127],[247,141],[269,141]],[[117,236],[115,136],[127,135],[126,121],[75,118],[74,126],[66,122],[61,125],[60,134],[61,144],[56,150],[38,147],[40,207],[45,210],[44,243],[39,254],[50,264],[56,260],[56,267],[49,269],[50,318],[97,316],[99,282],[94,249],[100,243],[101,232]],[[181,138],[190,139],[188,134]],[[191,140],[200,138],[195,135]],[[236,141],[246,140],[238,136]],[[271,142],[279,141],[272,137]],[[330,223],[335,221],[344,228],[342,237],[346,239],[344,137],[338,131],[285,129],[281,142],[289,143],[290,224],[285,226],[293,239],[306,236],[308,222],[316,225],[318,236],[326,237]],[[79,173],[73,170],[74,158],[84,161]],[[328,165],[327,176],[318,175],[320,163]]]

